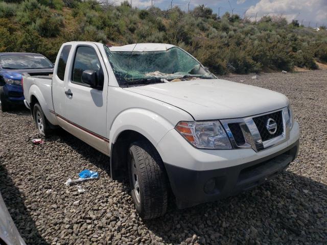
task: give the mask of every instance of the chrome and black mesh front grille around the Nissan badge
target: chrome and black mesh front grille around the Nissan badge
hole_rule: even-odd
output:
[[[276,122],[276,132],[269,133],[267,121]],[[235,149],[252,148],[259,152],[285,142],[289,138],[289,120],[287,108],[263,113],[251,117],[224,119],[221,123]]]

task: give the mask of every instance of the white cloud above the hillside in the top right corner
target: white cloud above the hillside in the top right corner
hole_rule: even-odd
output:
[[[247,16],[283,15],[291,21],[327,23],[327,0],[260,0],[247,10]]]

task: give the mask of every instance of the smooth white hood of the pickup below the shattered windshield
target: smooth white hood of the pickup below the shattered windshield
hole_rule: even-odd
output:
[[[176,106],[195,120],[246,117],[286,107],[281,93],[222,79],[159,83],[125,88]]]

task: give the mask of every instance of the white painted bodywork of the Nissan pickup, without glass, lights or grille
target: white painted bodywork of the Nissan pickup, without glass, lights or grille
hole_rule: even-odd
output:
[[[295,122],[288,141],[261,152],[252,149],[196,149],[174,129],[179,121],[238,118],[261,114],[288,106],[287,97],[267,89],[220,79],[121,88],[114,77],[103,44],[69,42],[63,45],[67,44],[72,45],[72,50],[67,60],[65,79],[71,77],[74,49],[78,45],[91,45],[96,49],[104,70],[103,90],[94,91],[72,84],[69,79],[58,81],[56,62],[52,84],[49,79],[28,77],[24,80],[24,95],[28,103],[31,95],[37,97],[46,118],[52,124],[59,124],[107,155],[110,153],[112,143],[122,132],[133,130],[144,135],[155,146],[165,163],[193,170],[208,170],[239,165],[269,156],[287,148],[299,138],[299,128]],[[170,46],[167,44],[142,44],[137,47],[137,52],[165,50],[168,47]],[[131,51],[132,48],[133,45],[127,45],[110,49]],[[73,92],[72,99],[64,94],[67,89]],[[58,120],[59,117],[50,110],[65,119]],[[96,135],[91,135],[87,131]]]

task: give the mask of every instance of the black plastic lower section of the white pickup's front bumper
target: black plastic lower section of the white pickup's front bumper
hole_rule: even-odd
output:
[[[165,163],[178,208],[216,201],[262,184],[296,158],[299,141],[268,157],[226,168],[196,171]]]

